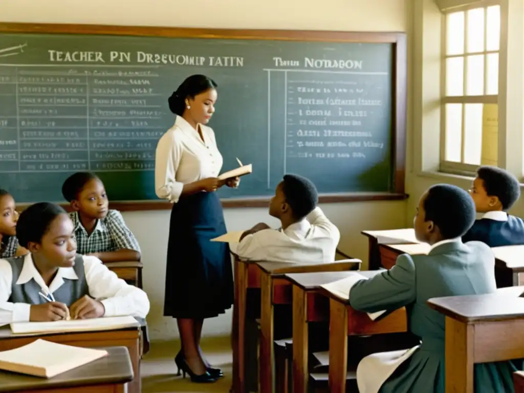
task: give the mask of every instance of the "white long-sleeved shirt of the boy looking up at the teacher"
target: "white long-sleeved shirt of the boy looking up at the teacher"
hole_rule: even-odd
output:
[[[267,229],[247,235],[236,254],[246,260],[323,263],[335,260],[340,232],[320,208],[285,230]]]

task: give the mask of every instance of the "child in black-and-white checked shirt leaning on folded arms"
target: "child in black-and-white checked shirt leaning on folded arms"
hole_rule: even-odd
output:
[[[122,214],[108,209],[104,184],[90,172],[77,172],[65,180],[62,195],[77,239],[77,253],[93,255],[102,262],[138,261],[140,247]]]

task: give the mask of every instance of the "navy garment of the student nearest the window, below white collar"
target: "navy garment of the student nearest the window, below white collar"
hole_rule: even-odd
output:
[[[476,220],[462,237],[465,242],[483,242],[489,247],[517,246],[524,244],[524,221],[508,214],[508,221]]]

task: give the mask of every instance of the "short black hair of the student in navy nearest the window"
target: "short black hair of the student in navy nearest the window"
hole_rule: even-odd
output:
[[[477,177],[484,182],[486,193],[498,198],[503,210],[509,210],[520,198],[520,183],[507,170],[486,165],[477,169]]]

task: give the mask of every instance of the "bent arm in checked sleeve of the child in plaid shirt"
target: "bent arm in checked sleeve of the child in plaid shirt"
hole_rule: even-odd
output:
[[[117,210],[110,210],[105,224],[117,250],[98,253],[97,257],[103,262],[140,260],[140,246],[135,235],[124,222],[122,214]]]

